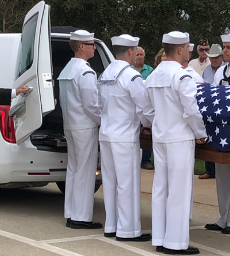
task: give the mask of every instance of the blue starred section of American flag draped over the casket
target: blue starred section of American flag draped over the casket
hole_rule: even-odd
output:
[[[197,104],[203,117],[210,146],[230,150],[230,85],[200,84]]]

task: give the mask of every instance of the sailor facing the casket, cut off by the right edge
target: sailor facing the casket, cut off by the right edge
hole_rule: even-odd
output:
[[[230,85],[230,34],[221,35],[226,65],[219,67],[214,76],[213,84]],[[215,163],[216,192],[219,214],[221,218],[215,224],[207,224],[208,230],[221,230],[223,234],[230,234],[230,165]]]

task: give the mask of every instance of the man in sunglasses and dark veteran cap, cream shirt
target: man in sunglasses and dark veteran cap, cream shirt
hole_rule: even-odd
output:
[[[195,71],[202,76],[205,67],[209,66],[210,60],[206,55],[206,52],[209,53],[209,41],[201,39],[197,46],[197,53],[199,55],[198,59],[192,59],[189,61],[189,66],[191,66]]]

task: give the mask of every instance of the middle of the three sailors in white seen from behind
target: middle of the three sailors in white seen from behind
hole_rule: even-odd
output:
[[[104,236],[118,241],[148,241],[141,232],[140,212],[140,120],[151,126],[143,114],[145,86],[136,61],[139,38],[112,37],[116,60],[97,81],[101,108],[99,131],[101,174],[106,223]],[[153,120],[153,116],[151,117]]]

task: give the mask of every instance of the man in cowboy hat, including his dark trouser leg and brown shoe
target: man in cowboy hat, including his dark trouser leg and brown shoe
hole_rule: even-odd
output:
[[[203,78],[207,84],[212,84],[216,70],[225,65],[221,46],[219,44],[212,44],[210,52],[206,53],[206,55],[209,57],[211,64],[204,69]],[[200,175],[199,179],[215,178],[215,163],[206,161],[205,169],[205,174]]]

